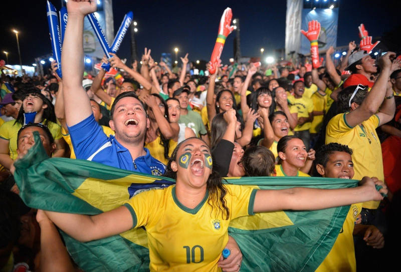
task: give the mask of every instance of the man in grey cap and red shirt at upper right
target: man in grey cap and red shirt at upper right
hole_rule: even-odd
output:
[[[344,81],[343,88],[362,84],[373,87],[374,82],[370,76],[377,72],[376,61],[366,51],[354,51],[348,58],[348,66],[345,68],[351,75]]]

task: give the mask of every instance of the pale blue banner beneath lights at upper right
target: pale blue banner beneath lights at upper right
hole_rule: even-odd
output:
[[[337,46],[337,25],[338,8],[335,9],[303,9],[302,10],[302,29],[308,29],[308,22],[317,20],[320,23],[320,35],[318,39],[319,52],[329,49],[330,46]],[[303,35],[299,32],[299,37]],[[301,48],[299,53],[310,54],[310,42],[305,37],[301,38]]]

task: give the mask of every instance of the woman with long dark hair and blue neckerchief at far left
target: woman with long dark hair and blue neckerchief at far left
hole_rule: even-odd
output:
[[[17,159],[17,134],[20,128],[28,123],[41,123],[47,126],[56,143],[53,157],[63,157],[66,143],[61,135],[61,127],[57,124],[52,102],[34,86],[19,92],[24,92],[25,98],[17,119],[4,123],[0,128],[0,164],[10,169]]]

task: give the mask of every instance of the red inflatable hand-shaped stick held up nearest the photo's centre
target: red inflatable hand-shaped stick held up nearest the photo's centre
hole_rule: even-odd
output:
[[[211,66],[209,67],[209,73],[213,75],[217,71],[218,61],[223,52],[224,43],[226,42],[227,36],[234,30],[231,24],[231,18],[233,13],[230,8],[224,10],[222,18],[220,19],[219,25],[219,35],[217,36],[215,48],[212,52],[212,57],[210,58]]]

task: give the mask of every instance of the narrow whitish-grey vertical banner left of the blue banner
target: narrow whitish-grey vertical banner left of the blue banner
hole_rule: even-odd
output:
[[[285,56],[290,52],[299,52],[301,45],[299,36],[301,31],[302,0],[287,0],[285,20]],[[286,58],[285,58],[286,59]]]

